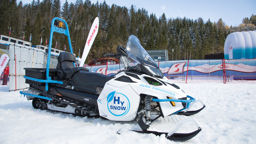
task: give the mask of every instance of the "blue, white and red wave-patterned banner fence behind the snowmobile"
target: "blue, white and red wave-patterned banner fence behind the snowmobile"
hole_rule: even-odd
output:
[[[256,83],[256,59],[158,61],[164,76],[174,83]],[[91,72],[114,75],[119,64],[86,66]]]

